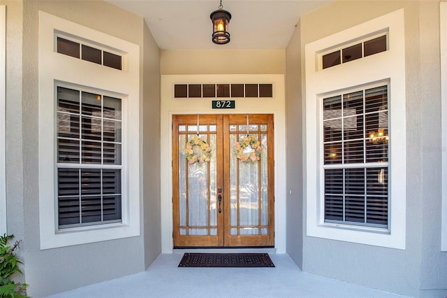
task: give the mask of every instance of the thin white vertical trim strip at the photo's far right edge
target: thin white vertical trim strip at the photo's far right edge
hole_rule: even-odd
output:
[[[439,3],[441,27],[441,142],[442,142],[442,207],[441,250],[447,251],[447,2]]]

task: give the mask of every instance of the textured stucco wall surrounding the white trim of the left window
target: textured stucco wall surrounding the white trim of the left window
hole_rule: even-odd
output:
[[[148,118],[159,109],[159,50],[141,17],[105,1],[0,1],[7,15],[7,204],[8,233],[23,239],[24,275],[29,295],[44,297],[118,276],[143,271],[160,251],[159,209],[145,213],[154,226],[138,237],[80,246],[40,250],[38,217],[38,10],[63,17],[106,34],[140,45],[140,99]],[[23,32],[22,32],[23,30]],[[22,52],[22,55],[20,53]],[[144,55],[143,55],[144,54]],[[144,57],[144,59],[143,59]],[[45,67],[41,65],[40,67]],[[145,86],[143,87],[143,80]],[[142,107],[143,104],[140,105]],[[150,108],[155,111],[151,112]],[[135,115],[137,116],[137,115]],[[156,122],[156,118],[153,120]],[[149,129],[148,139],[158,139],[159,129]],[[154,134],[151,136],[150,134]],[[142,142],[140,152],[143,154]],[[157,148],[152,150],[159,150]],[[150,152],[150,151],[149,151]],[[159,176],[155,172],[147,175]],[[146,178],[148,179],[148,178]],[[149,187],[154,186],[152,192]],[[159,199],[157,183],[148,183],[142,201]],[[145,226],[146,227],[146,226]],[[142,232],[143,233],[143,232]]]

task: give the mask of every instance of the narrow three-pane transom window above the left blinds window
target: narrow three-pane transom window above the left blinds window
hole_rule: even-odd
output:
[[[122,70],[122,56],[57,36],[57,52]]]

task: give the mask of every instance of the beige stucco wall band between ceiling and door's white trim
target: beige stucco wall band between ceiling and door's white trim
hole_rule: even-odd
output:
[[[224,45],[223,45],[224,47]],[[283,74],[285,50],[162,50],[161,74]]]

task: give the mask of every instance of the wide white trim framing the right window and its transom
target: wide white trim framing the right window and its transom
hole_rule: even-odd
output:
[[[389,50],[346,64],[318,71],[318,53],[373,32],[389,32]],[[374,66],[380,67],[374,67]],[[406,120],[404,10],[396,10],[374,20],[305,45],[305,190],[307,236],[363,243],[389,248],[405,248],[406,236]],[[324,94],[389,80],[390,81],[390,204],[389,229],[335,225],[324,222],[323,149],[321,106]]]

